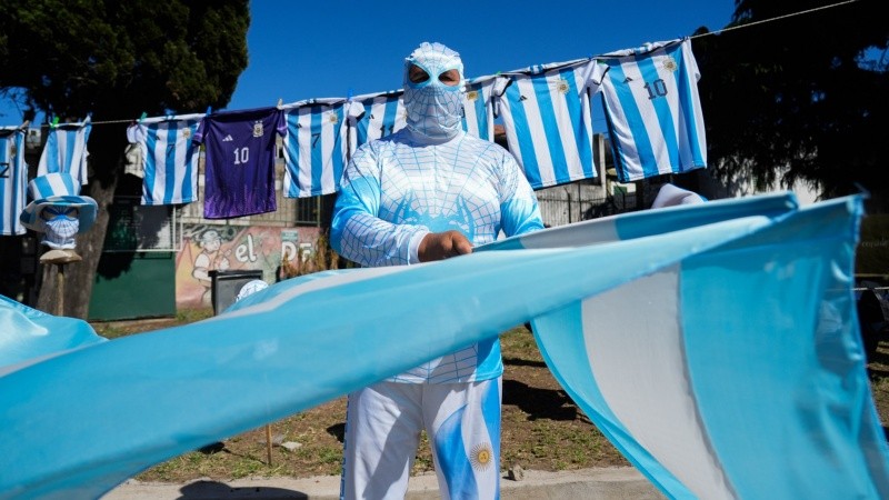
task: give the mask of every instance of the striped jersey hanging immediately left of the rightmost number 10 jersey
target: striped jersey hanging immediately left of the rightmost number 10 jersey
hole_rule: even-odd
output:
[[[501,73],[495,113],[535,189],[598,176],[592,154],[591,59]]]

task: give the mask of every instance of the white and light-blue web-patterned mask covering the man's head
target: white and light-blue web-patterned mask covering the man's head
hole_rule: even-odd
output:
[[[408,78],[411,66],[421,68],[429,78],[413,83]],[[457,86],[448,86],[439,77],[456,69]],[[408,128],[420,137],[448,139],[462,130],[463,62],[460,54],[441,43],[422,42],[404,59],[404,108]]]

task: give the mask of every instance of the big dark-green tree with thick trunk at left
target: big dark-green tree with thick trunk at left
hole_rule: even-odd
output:
[[[78,238],[82,262],[66,270],[66,316],[86,318],[119,186],[126,120],[224,108],[247,68],[248,0],[6,0],[0,91],[26,119],[81,121],[91,113],[89,184],[96,226]],[[102,123],[104,121],[104,123]],[[101,124],[100,124],[101,123]],[[38,309],[56,312],[58,270],[44,269]]]

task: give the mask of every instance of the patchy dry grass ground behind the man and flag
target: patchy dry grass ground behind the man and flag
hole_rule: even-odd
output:
[[[183,311],[176,319],[96,323],[99,334],[113,338],[197,321],[212,311]],[[533,336],[525,327],[501,334],[503,352],[503,413],[501,466],[560,471],[598,467],[629,467],[629,462],[599,432],[552,378]],[[889,421],[889,339],[868,364],[880,420]],[[337,476],[342,457],[346,398],[270,423],[272,442],[298,443],[290,451],[272,448],[271,463],[264,426],[230,437],[157,464],[141,481],[187,482],[199,478],[230,480],[246,477]],[[422,437],[412,472],[432,470],[429,443]]]

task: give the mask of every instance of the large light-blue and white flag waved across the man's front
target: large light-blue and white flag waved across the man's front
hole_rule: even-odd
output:
[[[861,217],[860,197],[800,208],[790,193],[632,212],[293,278],[208,320],[56,356],[30,346],[3,358],[0,498],[101,496],[525,321],[668,498],[887,498],[852,292]],[[0,302],[0,331],[21,313]]]

